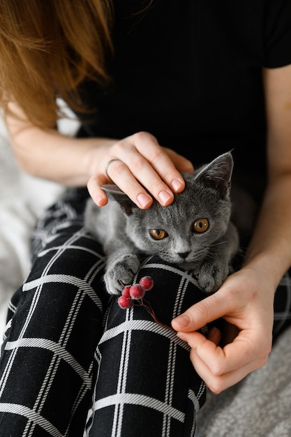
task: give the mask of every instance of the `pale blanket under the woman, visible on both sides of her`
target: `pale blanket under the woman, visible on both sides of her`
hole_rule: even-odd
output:
[[[66,131],[64,126],[64,131]],[[67,131],[75,129],[69,126]],[[0,126],[0,334],[12,293],[29,270],[29,235],[36,217],[63,188],[24,175]],[[266,366],[209,401],[197,417],[197,437],[291,436],[291,328]]]

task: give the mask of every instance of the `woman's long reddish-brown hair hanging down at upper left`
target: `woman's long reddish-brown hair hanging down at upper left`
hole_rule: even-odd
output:
[[[110,0],[0,0],[0,105],[15,101],[33,124],[51,127],[60,95],[86,111],[77,94],[85,78],[109,80]]]

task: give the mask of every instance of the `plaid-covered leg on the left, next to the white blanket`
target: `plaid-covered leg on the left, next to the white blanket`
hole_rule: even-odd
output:
[[[75,204],[62,199],[40,218],[31,272],[10,304],[1,435],[82,436],[108,295],[102,251]]]

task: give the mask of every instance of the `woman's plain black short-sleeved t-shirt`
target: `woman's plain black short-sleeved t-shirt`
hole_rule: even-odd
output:
[[[88,135],[156,135],[197,163],[264,174],[262,67],[291,64],[291,0],[115,0],[112,85],[83,85]],[[92,122],[93,120],[93,122]]]

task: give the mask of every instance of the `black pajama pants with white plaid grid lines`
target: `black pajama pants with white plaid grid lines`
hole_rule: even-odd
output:
[[[147,258],[154,288],[120,309],[105,292],[102,249],[83,227],[87,191],[69,190],[38,221],[31,272],[15,292],[0,362],[1,437],[193,436],[205,387],[168,329],[204,294],[187,272]],[[274,329],[290,321],[287,274]],[[278,301],[278,302],[277,302]]]

